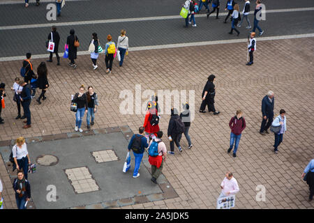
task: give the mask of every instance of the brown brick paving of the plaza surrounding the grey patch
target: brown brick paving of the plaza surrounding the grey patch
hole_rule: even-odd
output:
[[[253,66],[245,66],[246,43],[182,47],[130,52],[124,66],[114,61],[112,74],[105,74],[103,55],[98,70],[92,70],[89,56],[78,56],[77,70],[61,61],[61,66],[48,64],[50,89],[42,105],[31,102],[31,128],[22,129],[13,93],[9,91],[19,76],[21,61],[0,63],[1,82],[7,84],[6,109],[2,117],[0,141],[23,137],[37,137],[74,131],[75,114],[70,112],[70,95],[81,84],[94,86],[100,107],[94,129],[128,125],[133,132],[144,121],[144,114],[119,113],[122,102],[119,94],[124,89],[135,91],[135,84],[146,89],[194,90],[195,120],[190,137],[193,148],[187,149],[182,138],[183,153],[175,150],[168,156],[163,174],[179,194],[178,198],[126,206],[124,208],[216,208],[220,182],[225,171],[237,178],[240,192],[236,208],[314,208],[309,203],[308,186],[301,174],[313,159],[314,118],[314,38],[258,42]],[[42,60],[34,60],[36,68]],[[210,73],[216,75],[216,109],[218,116],[200,114],[201,93]],[[272,151],[274,135],[258,133],[261,122],[261,100],[267,91],[275,93],[275,115],[279,109],[287,111],[287,132],[278,155]],[[144,100],[143,100],[144,102]],[[237,157],[227,154],[230,129],[228,123],[235,111],[244,111],[247,127],[242,134]],[[160,129],[167,132],[170,116],[163,114]],[[84,118],[82,128],[86,130]],[[163,137],[170,149],[167,137]],[[6,161],[6,160],[4,160]],[[0,159],[0,174],[4,182],[3,197],[13,197],[10,180]],[[149,179],[147,179],[149,180]],[[257,185],[266,187],[266,201],[257,202]],[[33,192],[36,193],[36,192]],[[9,199],[8,199],[9,197]],[[14,208],[7,202],[5,208]]]

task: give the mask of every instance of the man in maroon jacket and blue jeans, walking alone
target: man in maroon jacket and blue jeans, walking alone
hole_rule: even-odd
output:
[[[237,110],[237,115],[231,118],[229,127],[231,128],[230,148],[227,152],[230,153],[232,151],[235,139],[233,157],[237,157],[236,153],[241,139],[241,133],[246,128],[246,120],[242,117],[241,110]]]

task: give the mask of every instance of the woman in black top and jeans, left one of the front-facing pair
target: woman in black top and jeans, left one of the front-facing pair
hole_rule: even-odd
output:
[[[75,114],[75,132],[83,132],[81,125],[83,121],[84,114],[87,113],[87,95],[84,93],[84,85],[80,86],[80,92],[75,93],[73,102],[77,103],[77,112]]]

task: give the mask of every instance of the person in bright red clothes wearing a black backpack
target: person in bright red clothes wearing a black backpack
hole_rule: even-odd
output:
[[[155,139],[159,131],[159,116],[156,108],[156,102],[150,101],[147,105],[147,113],[144,119],[145,137]]]

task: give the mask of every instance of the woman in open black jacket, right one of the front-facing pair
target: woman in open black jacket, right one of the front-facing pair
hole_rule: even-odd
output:
[[[87,128],[90,129],[91,125],[94,125],[95,113],[98,108],[98,95],[94,92],[92,86],[87,89]],[[91,120],[91,122],[89,122]]]

